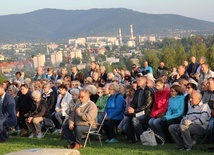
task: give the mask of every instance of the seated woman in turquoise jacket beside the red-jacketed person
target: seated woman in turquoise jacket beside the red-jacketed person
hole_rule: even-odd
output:
[[[181,122],[182,116],[184,115],[184,95],[181,86],[172,85],[170,88],[170,94],[171,97],[169,98],[168,109],[164,117],[162,117],[162,121],[160,122],[162,126],[161,133],[163,133],[163,135],[160,136],[163,137],[166,142],[171,142],[168,127],[171,124],[179,124]]]

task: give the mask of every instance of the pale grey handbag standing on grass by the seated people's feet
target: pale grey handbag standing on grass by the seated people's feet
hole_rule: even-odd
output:
[[[144,131],[140,135],[140,140],[142,145],[156,146],[157,140],[155,137],[161,140],[162,145],[165,143],[165,140],[161,136],[155,134],[154,131],[150,128],[148,128],[147,131]]]

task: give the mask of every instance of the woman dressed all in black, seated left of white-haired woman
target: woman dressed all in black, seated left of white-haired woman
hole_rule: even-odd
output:
[[[33,99],[31,97],[31,92],[26,84],[22,84],[20,87],[21,95],[17,101],[16,105],[16,116],[18,118],[18,125],[21,129],[21,135],[26,134],[25,129],[27,126],[25,124],[25,119],[27,118],[27,113],[31,110],[33,105]]]

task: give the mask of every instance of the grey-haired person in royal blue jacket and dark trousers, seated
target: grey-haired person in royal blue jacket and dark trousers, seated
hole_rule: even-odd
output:
[[[110,97],[105,106],[105,113],[107,114],[106,120],[104,121],[103,128],[107,136],[106,143],[116,143],[116,134],[114,127],[118,126],[123,119],[125,111],[125,100],[123,96],[119,93],[119,85],[112,83],[109,86]]]

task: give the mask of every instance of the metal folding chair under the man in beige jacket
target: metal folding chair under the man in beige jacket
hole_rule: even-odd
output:
[[[95,136],[97,136],[98,138],[99,138],[99,141],[100,141],[100,145],[102,146],[102,140],[101,140],[101,133],[100,133],[100,130],[101,130],[101,128],[102,128],[102,126],[103,126],[103,123],[104,123],[104,121],[105,121],[105,119],[106,119],[106,116],[107,116],[107,114],[105,114],[104,115],[104,117],[103,117],[103,119],[102,119],[102,121],[101,121],[101,123],[100,124],[96,124],[97,125],[97,129],[95,129],[95,130],[93,130],[92,129],[92,125],[94,125],[94,124],[90,124],[90,126],[89,126],[89,129],[88,129],[88,132],[86,132],[86,139],[85,139],[85,143],[84,143],[84,146],[83,146],[83,148],[85,148],[86,147],[86,144],[87,144],[87,141],[88,141],[88,139],[89,139],[89,143],[91,144],[91,142],[90,142],[90,135],[95,135]]]

